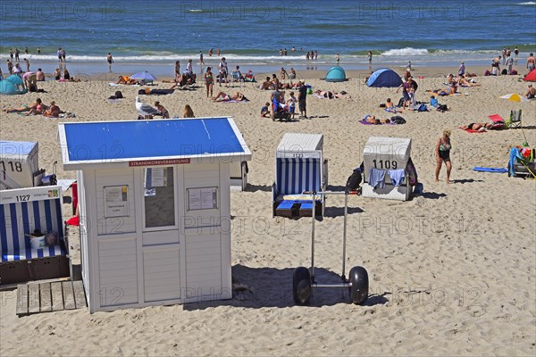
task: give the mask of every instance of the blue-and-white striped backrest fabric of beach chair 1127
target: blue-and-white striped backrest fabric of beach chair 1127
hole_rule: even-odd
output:
[[[0,204],[0,248],[2,262],[65,255],[63,245],[32,249],[27,234],[34,229],[57,232],[63,241],[60,199]]]

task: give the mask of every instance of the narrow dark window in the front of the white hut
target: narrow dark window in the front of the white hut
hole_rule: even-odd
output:
[[[145,169],[145,227],[175,226],[175,187],[172,167]]]

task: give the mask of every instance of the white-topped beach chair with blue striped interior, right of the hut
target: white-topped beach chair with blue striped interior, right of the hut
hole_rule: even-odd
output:
[[[323,216],[321,195],[302,195],[305,191],[325,191],[328,164],[322,153],[321,134],[286,133],[275,154],[275,182],[272,185],[272,214],[282,217]]]

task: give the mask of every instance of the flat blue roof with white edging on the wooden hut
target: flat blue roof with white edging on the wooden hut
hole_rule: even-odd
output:
[[[251,158],[231,118],[71,122],[59,126],[63,166],[75,170],[87,164],[151,166],[136,162]]]

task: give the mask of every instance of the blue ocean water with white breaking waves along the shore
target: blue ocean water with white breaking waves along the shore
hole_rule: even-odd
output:
[[[315,66],[333,64],[339,53],[345,68],[361,69],[369,50],[374,64],[387,66],[488,64],[503,47],[517,46],[524,57],[536,50],[536,2],[515,0],[4,0],[0,24],[2,63],[17,47],[21,58],[54,65],[63,47],[70,66],[95,72],[107,70],[108,52],[114,67],[132,70],[197,63],[199,51],[216,64],[218,48],[242,68],[308,66],[306,52],[317,51]]]

